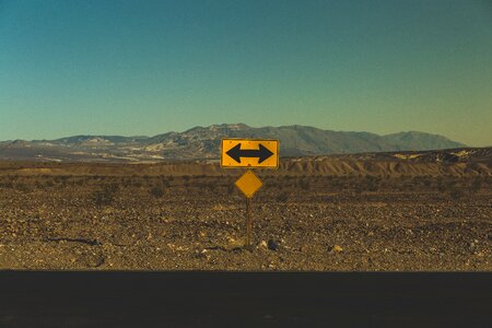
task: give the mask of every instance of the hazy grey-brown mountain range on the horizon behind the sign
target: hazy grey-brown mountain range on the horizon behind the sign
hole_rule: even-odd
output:
[[[305,126],[253,128],[244,124],[223,124],[154,137],[75,136],[57,140],[3,141],[0,142],[0,160],[141,162],[218,159],[220,141],[224,137],[279,139],[282,156],[466,147],[443,136],[415,131],[378,136]]]

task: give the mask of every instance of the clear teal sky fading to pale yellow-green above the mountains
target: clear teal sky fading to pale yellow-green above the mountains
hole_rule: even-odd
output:
[[[492,145],[492,2],[0,0],[0,140],[222,122]]]

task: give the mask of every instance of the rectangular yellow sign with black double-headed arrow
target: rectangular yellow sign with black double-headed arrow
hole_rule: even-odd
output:
[[[222,139],[221,166],[278,168],[279,140]]]

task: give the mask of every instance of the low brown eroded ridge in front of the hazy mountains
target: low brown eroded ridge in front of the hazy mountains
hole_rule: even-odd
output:
[[[241,169],[239,169],[241,171]],[[492,148],[467,148],[419,152],[377,152],[282,159],[278,171],[263,169],[260,176],[337,177],[430,177],[492,176]],[[4,175],[75,176],[233,176],[237,169],[222,169],[216,161],[157,163],[80,163],[0,161]],[[418,184],[418,183],[415,183]]]

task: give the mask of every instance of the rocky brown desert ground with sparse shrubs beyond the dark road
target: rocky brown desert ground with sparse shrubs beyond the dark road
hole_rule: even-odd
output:
[[[489,171],[488,171],[489,169]],[[0,269],[491,271],[490,161],[0,163]]]

